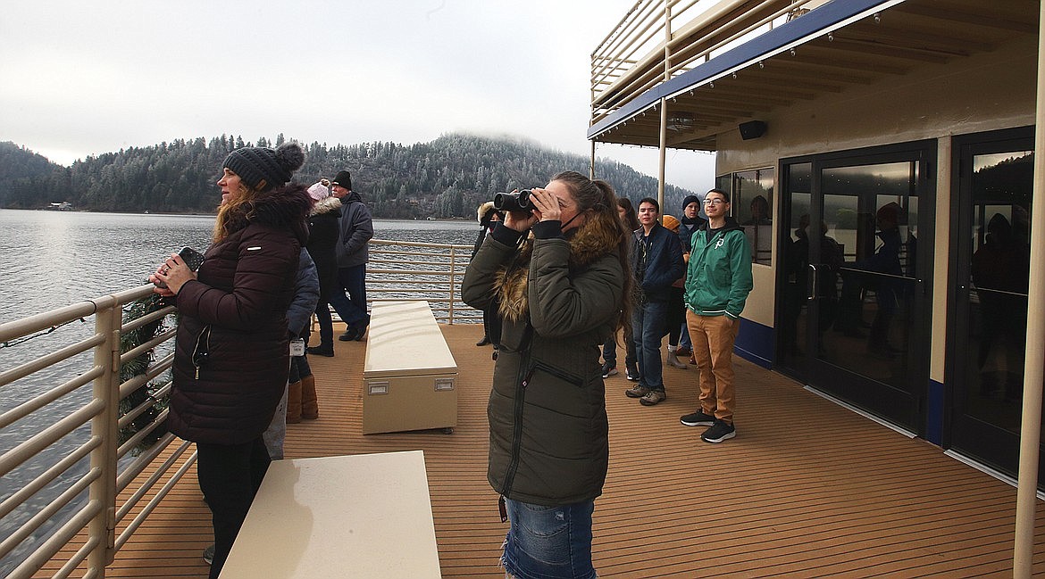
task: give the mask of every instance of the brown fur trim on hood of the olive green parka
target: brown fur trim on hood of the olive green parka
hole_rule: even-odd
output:
[[[570,273],[583,270],[597,260],[618,254],[620,233],[604,221],[593,219],[565,234],[570,243]],[[524,319],[530,310],[527,283],[530,276],[530,258],[533,256],[533,235],[524,242],[516,259],[497,271],[493,287],[497,294],[498,311],[510,321]]]

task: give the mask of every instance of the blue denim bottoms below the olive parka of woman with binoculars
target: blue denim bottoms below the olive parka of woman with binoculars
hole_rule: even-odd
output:
[[[506,501],[511,527],[501,557],[516,579],[594,579],[591,513],[595,502],[545,507]]]

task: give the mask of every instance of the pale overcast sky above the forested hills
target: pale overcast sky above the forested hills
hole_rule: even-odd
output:
[[[173,139],[514,135],[587,155],[590,53],[634,0],[94,0],[0,13],[0,141],[63,165]],[[656,175],[655,149],[597,155]],[[669,151],[669,183],[714,158]]]

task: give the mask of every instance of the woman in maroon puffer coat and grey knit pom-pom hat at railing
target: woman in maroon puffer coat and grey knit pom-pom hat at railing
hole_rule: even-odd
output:
[[[262,433],[289,368],[286,313],[295,295],[310,199],[287,184],[304,164],[297,143],[229,153],[217,186],[213,243],[198,272],[177,255],[150,275],[181,319],[167,427],[196,443],[211,509],[215,578],[269,467]]]

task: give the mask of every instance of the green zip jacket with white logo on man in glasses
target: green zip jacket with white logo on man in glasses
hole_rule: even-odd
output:
[[[734,319],[744,311],[750,293],[751,246],[744,230],[733,217],[707,239],[707,225],[694,232],[693,250],[686,274],[686,307],[702,316],[727,315]]]

